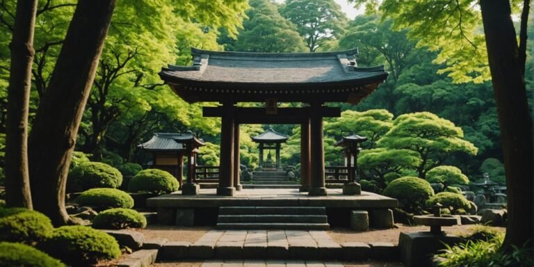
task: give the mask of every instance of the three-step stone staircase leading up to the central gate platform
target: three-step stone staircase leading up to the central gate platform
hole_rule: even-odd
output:
[[[217,229],[327,230],[324,207],[219,207]]]

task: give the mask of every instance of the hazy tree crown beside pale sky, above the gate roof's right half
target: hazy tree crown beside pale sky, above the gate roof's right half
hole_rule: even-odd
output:
[[[287,0],[282,16],[297,26],[310,52],[343,33],[346,17],[334,0]]]

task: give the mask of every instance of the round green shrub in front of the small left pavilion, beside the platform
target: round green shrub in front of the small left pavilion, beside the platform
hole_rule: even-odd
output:
[[[178,180],[169,172],[158,169],[140,171],[131,178],[128,190],[131,192],[147,192],[156,195],[168,194],[178,190]]]

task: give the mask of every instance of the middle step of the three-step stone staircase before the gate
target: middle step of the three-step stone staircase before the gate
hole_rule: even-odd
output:
[[[328,223],[326,215],[219,215],[218,223]]]

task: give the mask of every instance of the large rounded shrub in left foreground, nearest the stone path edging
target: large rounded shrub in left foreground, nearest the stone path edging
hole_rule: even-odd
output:
[[[120,257],[119,244],[102,231],[86,226],[63,226],[40,244],[52,257],[71,266],[86,266]]]

